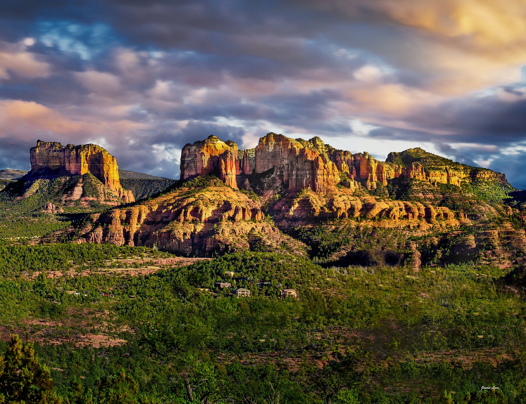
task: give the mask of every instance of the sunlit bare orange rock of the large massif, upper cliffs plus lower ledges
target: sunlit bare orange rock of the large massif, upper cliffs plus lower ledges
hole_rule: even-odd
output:
[[[361,187],[375,189],[377,184],[387,185],[388,180],[397,177],[430,184],[460,184],[466,176],[493,176],[505,181],[504,176],[491,170],[459,165],[421,149],[389,156],[389,161],[382,162],[368,153],[337,150],[318,137],[307,141],[274,133],[260,138],[254,149],[238,153],[236,143],[209,136],[185,145],[181,153],[181,179],[213,174],[204,183],[190,181],[151,201],[94,215],[81,234],[83,240],[94,243],[156,245],[171,252],[198,255],[217,248],[248,248],[251,237],[264,234],[268,243],[274,243],[272,248],[286,241],[300,250],[294,247],[296,241],[279,229],[319,223],[320,219],[358,217],[375,219],[384,227],[421,229],[437,224],[437,219],[451,226],[467,220],[466,214],[447,207],[372,197],[359,191]],[[414,156],[423,156],[423,164],[407,163]],[[426,163],[426,158],[434,159],[434,165]],[[437,158],[445,161],[443,168],[437,167]],[[211,185],[206,185],[207,181],[212,181]],[[250,184],[258,187],[260,200],[236,191],[251,189]],[[280,189],[289,192],[271,201]],[[264,204],[274,216],[276,227],[265,219]]]

